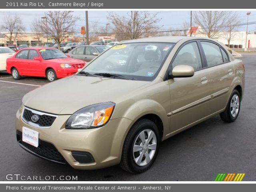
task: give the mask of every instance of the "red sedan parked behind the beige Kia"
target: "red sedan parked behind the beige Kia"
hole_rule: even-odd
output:
[[[6,70],[15,80],[21,76],[46,77],[48,81],[78,72],[86,62],[69,58],[56,48],[24,48],[6,60]]]

